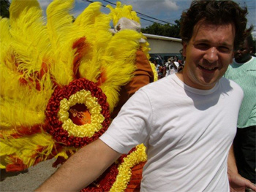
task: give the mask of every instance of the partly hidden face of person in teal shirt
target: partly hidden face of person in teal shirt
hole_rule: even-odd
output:
[[[243,64],[249,61],[251,58],[252,47],[249,47],[247,40],[244,41],[244,45],[241,46],[239,50],[235,53],[236,62]]]

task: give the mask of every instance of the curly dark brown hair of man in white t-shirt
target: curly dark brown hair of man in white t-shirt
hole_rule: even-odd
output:
[[[241,8],[234,1],[192,1],[190,8],[181,15],[181,39],[183,42],[189,42],[193,28],[200,20],[214,25],[233,23],[236,30],[234,41],[236,50],[252,31],[252,26],[246,29],[247,14],[247,8]]]

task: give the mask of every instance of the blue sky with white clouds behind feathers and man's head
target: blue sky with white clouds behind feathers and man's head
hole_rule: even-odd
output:
[[[38,0],[42,9],[45,10],[48,4],[52,0]],[[95,1],[95,0],[91,0]],[[99,0],[103,5],[110,4],[107,1]],[[109,2],[116,4],[116,1],[108,0]],[[157,18],[159,20],[164,20],[169,23],[174,23],[175,20],[178,20],[181,17],[181,12],[184,9],[189,8],[189,5],[192,0],[121,0],[123,4],[131,4],[133,10],[136,12],[140,12],[144,15],[148,15],[152,18]],[[234,0],[241,6],[246,5],[249,11],[247,15],[248,24],[255,26],[253,31],[253,36],[256,37],[256,1],[255,0]],[[75,7],[72,10],[72,14],[77,17],[80,12],[83,11],[90,3],[86,0],[75,0]],[[112,5],[115,7],[114,5]],[[108,13],[108,9],[102,7],[102,12]],[[138,15],[140,17],[140,15]],[[159,20],[154,20],[152,18],[146,18],[147,20],[143,20],[146,18],[145,16],[140,17],[140,23],[143,28],[153,24],[148,20],[155,21],[157,23],[163,23]]]

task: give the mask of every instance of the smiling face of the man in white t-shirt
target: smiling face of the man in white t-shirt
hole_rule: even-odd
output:
[[[225,74],[233,59],[235,29],[232,24],[198,22],[192,38],[184,43],[184,83],[192,88],[211,89]]]

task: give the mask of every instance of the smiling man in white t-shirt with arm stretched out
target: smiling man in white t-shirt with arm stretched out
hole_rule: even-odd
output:
[[[140,143],[148,155],[141,191],[256,190],[231,147],[243,91],[222,77],[250,32],[245,16],[233,1],[192,1],[181,17],[184,69],[136,92],[108,131],[37,191],[78,191]]]

